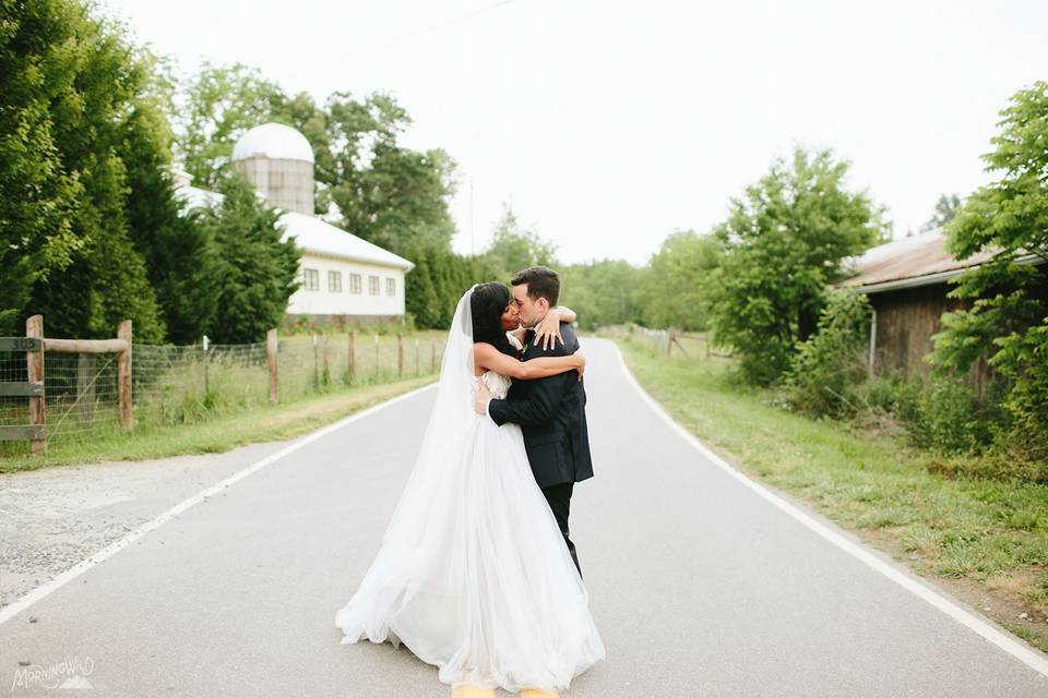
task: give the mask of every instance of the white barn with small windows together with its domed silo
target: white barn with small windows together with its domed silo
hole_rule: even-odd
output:
[[[302,251],[300,288],[288,299],[285,320],[392,321],[404,315],[404,276],[414,264],[313,215],[313,149],[301,133],[265,123],[245,133],[233,149],[233,167],[283,214],[283,239]],[[189,205],[218,194],[178,176]]]

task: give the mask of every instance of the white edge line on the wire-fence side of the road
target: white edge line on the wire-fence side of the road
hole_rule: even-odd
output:
[[[120,540],[118,540],[118,541],[116,541],[116,542],[114,542],[114,543],[110,543],[109,545],[107,545],[107,546],[104,547],[103,550],[98,551],[97,553],[95,553],[94,555],[92,555],[91,557],[88,557],[87,559],[84,559],[84,561],[81,561],[81,562],[76,563],[74,566],[70,567],[69,569],[67,569],[66,571],[63,571],[63,573],[60,574],[59,576],[55,577],[55,578],[51,579],[50,581],[40,585],[40,586],[37,587],[36,589],[34,589],[34,590],[32,590],[32,591],[23,594],[23,595],[20,597],[19,599],[16,599],[16,600],[15,600],[14,602],[12,602],[10,605],[7,605],[7,606],[4,606],[3,609],[0,609],[0,625],[3,625],[3,624],[7,623],[9,619],[11,619],[13,616],[17,615],[17,614],[21,613],[22,611],[25,611],[26,609],[28,609],[29,606],[32,606],[34,603],[36,603],[37,601],[39,601],[39,600],[43,599],[44,597],[46,597],[46,595],[48,595],[49,593],[51,593],[52,591],[61,588],[63,585],[68,583],[69,581],[75,579],[76,577],[79,577],[80,575],[84,574],[85,571],[87,571],[88,569],[91,569],[92,567],[94,567],[95,565],[104,562],[104,561],[107,559],[108,557],[111,557],[112,555],[117,554],[118,552],[120,552],[121,550],[123,550],[124,547],[127,547],[128,545],[130,545],[131,543],[133,543],[134,541],[139,540],[140,538],[142,538],[143,535],[145,535],[146,533],[148,533],[148,532],[152,531],[153,529],[159,528],[160,526],[163,526],[164,524],[167,524],[167,522],[170,521],[174,517],[178,516],[179,514],[181,514],[181,513],[184,512],[186,509],[189,509],[190,507],[192,507],[192,506],[194,506],[194,505],[196,505],[196,504],[200,504],[201,502],[203,502],[203,501],[206,500],[207,497],[210,497],[210,496],[212,496],[212,495],[214,495],[214,494],[217,494],[217,493],[218,493],[219,491],[222,491],[224,488],[228,488],[228,486],[231,485],[233,483],[235,483],[235,482],[237,482],[237,481],[239,481],[239,480],[242,480],[243,478],[247,478],[247,477],[250,476],[251,473],[258,472],[258,471],[261,470],[262,468],[265,468],[266,466],[273,465],[274,462],[276,462],[276,461],[279,460],[281,458],[284,458],[285,456],[295,453],[296,450],[298,450],[298,449],[301,448],[302,446],[306,446],[306,445],[308,445],[308,444],[311,444],[311,443],[313,443],[314,441],[317,441],[318,438],[323,438],[324,436],[326,436],[326,435],[330,434],[331,432],[337,431],[337,430],[342,429],[343,426],[345,426],[346,424],[350,424],[350,423],[353,423],[353,422],[356,422],[357,420],[361,420],[361,419],[364,419],[365,417],[369,417],[369,416],[378,412],[379,410],[383,410],[383,409],[385,409],[385,408],[388,408],[388,407],[390,407],[390,406],[392,406],[392,405],[396,405],[397,402],[401,402],[401,401],[403,401],[403,400],[410,399],[410,398],[415,397],[416,395],[418,395],[419,393],[425,393],[426,390],[430,390],[430,389],[434,388],[436,386],[437,386],[436,383],[431,383],[431,384],[426,385],[426,386],[424,386],[424,387],[420,387],[420,388],[418,388],[418,389],[412,390],[410,393],[405,393],[404,395],[398,395],[398,396],[396,396],[396,397],[394,397],[394,398],[392,398],[392,399],[390,399],[390,400],[386,400],[385,402],[381,402],[381,404],[379,404],[379,405],[376,405],[374,407],[370,407],[370,408],[364,410],[362,412],[357,412],[357,413],[355,413],[355,414],[350,414],[350,416],[348,416],[348,417],[346,417],[346,418],[343,418],[343,419],[338,420],[337,422],[333,422],[333,423],[329,424],[327,426],[323,426],[323,428],[317,430],[315,432],[312,432],[312,433],[310,433],[310,434],[307,434],[307,435],[303,436],[300,441],[297,441],[297,442],[295,442],[294,444],[282,448],[281,450],[276,452],[275,454],[271,454],[271,455],[266,456],[265,458],[263,458],[262,460],[259,460],[259,461],[257,461],[257,462],[254,462],[254,464],[252,464],[252,465],[243,468],[242,470],[239,470],[239,471],[235,472],[234,474],[229,476],[229,477],[226,478],[225,480],[222,480],[221,482],[216,482],[215,484],[211,485],[211,486],[207,488],[206,490],[201,490],[200,492],[198,492],[198,493],[194,494],[193,496],[189,497],[188,500],[181,502],[180,504],[177,504],[177,505],[172,506],[172,507],[169,508],[167,512],[164,512],[163,514],[160,514],[159,516],[157,516],[157,517],[156,517],[155,519],[153,519],[152,521],[146,521],[145,524],[143,524],[143,525],[140,526],[139,528],[134,529],[133,531],[131,531],[130,533],[128,533],[127,535],[124,535],[123,538],[121,538]]]

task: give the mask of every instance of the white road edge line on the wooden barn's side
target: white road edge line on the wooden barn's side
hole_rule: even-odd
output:
[[[652,410],[654,410],[655,413],[658,414],[658,417],[669,425],[670,429],[677,432],[681,438],[691,444],[695,450],[705,456],[710,461],[844,552],[861,561],[873,570],[884,575],[907,591],[910,591],[917,597],[924,599],[957,623],[961,623],[975,633],[978,633],[985,639],[998,646],[1034,671],[1048,676],[1048,660],[1046,660],[1041,654],[1017,642],[1014,638],[1005,635],[1004,633],[1001,633],[986,621],[973,615],[970,612],[962,609],[933,589],[925,586],[924,582],[918,581],[917,579],[909,577],[898,569],[892,567],[883,559],[862,549],[860,545],[855,544],[853,541],[844,538],[838,532],[827,528],[825,524],[812,518],[807,512],[798,509],[794,504],[787,502],[774,492],[767,490],[764,485],[759,484],[758,482],[751,480],[748,476],[733,468],[726,460],[713,453],[713,450],[711,450],[705,444],[699,441],[694,434],[674,421],[674,418],[670,417],[669,413],[658,402],[656,402],[654,398],[652,398],[652,396],[644,390],[644,388],[641,387],[640,383],[636,382],[636,378],[630,372],[630,368],[626,364],[626,358],[622,356],[622,351],[619,349],[618,345],[616,345],[614,341],[610,344],[615,347],[616,352],[619,354],[619,362],[621,363],[622,372],[626,374],[628,382],[633,386],[638,395],[640,395],[641,398],[647,402],[648,407],[651,407]]]

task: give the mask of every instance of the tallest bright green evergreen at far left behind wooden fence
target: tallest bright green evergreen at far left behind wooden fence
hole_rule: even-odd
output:
[[[153,108],[144,63],[72,0],[3,10],[0,274],[13,278],[0,321],[11,332],[43,313],[50,336],[111,337],[130,317],[136,340],[160,341],[127,212],[127,123]]]

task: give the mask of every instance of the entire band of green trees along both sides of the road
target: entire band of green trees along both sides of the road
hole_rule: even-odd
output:
[[[130,317],[144,342],[260,340],[298,287],[300,258],[281,241],[277,213],[230,167],[236,140],[266,121],[298,129],[312,146],[317,215],[416,264],[405,292],[418,326],[445,327],[473,282],[544,264],[561,272],[563,302],[586,328],[708,330],[747,381],[783,389],[798,409],[841,414],[881,400],[932,442],[1007,442],[1048,460],[1048,285],[1044,265],[1015,262],[1048,260],[1045,82],[1001,112],[984,156],[997,179],[964,200],[943,196],[928,222],[945,229],[958,258],[993,256],[950,293],[966,304],[936,337],[929,361],[940,383],[906,402],[905,390],[877,393],[864,377],[856,357],[869,306],[835,286],[891,226],[868,192],[848,188],[849,164],[831,151],[796,147],[774,159],[723,221],[674,231],[643,266],[560,264],[556,246],[509,207],[487,250],[460,255],[449,213],[455,163],[440,148],[403,145],[410,117],[389,95],[335,93],[318,104],[238,64],[183,77],[82,2],[7,3],[0,334],[44,313],[49,336],[108,337]],[[222,198],[187,210],[176,164]],[[942,383],[980,360],[995,380],[985,396]]]

